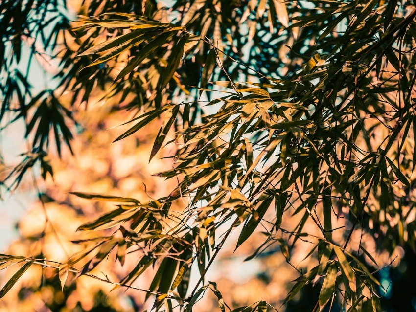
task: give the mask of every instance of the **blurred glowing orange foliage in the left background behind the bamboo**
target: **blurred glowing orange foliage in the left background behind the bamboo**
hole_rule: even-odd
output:
[[[66,99],[61,100],[65,102]],[[40,264],[44,259],[53,259],[54,262],[32,267],[25,273],[18,285],[0,301],[0,311],[132,312],[143,305],[141,293],[110,293],[114,285],[103,282],[102,278],[89,276],[73,280],[76,274],[65,267],[62,269],[62,266],[63,273],[56,276],[55,267],[59,269],[61,263],[68,261],[69,255],[82,253],[89,247],[88,244],[71,243],[71,240],[76,240],[76,228],[112,209],[112,205],[106,202],[92,204],[69,196],[70,190],[122,193],[140,200],[148,199],[146,191],[150,196],[160,196],[167,191],[168,184],[162,187],[155,178],[149,177],[151,173],[148,172],[166,168],[166,164],[156,162],[151,167],[139,161],[140,155],[149,153],[149,137],[156,135],[150,127],[146,135],[137,134],[111,146],[111,133],[100,131],[116,126],[128,117],[128,113],[114,110],[114,105],[111,101],[104,105],[90,104],[87,110],[77,112],[75,116],[82,123],[83,131],[74,137],[72,143],[76,158],[59,159],[51,155],[54,180],[35,180],[43,190],[39,194],[40,201],[19,222],[20,238],[9,246],[7,253],[36,258],[36,263]],[[106,234],[105,231],[98,233]],[[21,259],[16,258],[16,261]],[[108,262],[97,266],[94,273],[117,281],[135,265],[132,258],[126,259],[123,267],[115,261],[115,256],[109,257]],[[8,272],[8,277],[13,273]],[[66,274],[69,274],[69,281],[64,287]]]

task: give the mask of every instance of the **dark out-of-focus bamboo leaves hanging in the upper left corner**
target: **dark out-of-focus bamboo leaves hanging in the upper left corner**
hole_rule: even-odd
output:
[[[155,13],[154,1],[128,2],[113,0],[100,5],[99,1],[87,3],[84,0],[77,13],[99,15],[115,7],[121,12],[140,15],[152,16]],[[72,30],[70,21],[75,17],[67,4],[71,4],[71,1],[5,0],[0,3],[0,129],[3,131],[10,124],[23,120],[25,138],[28,139],[28,151],[24,156],[38,152],[50,153],[49,136],[54,136],[54,150],[59,156],[63,144],[70,151],[74,132],[71,112],[77,110],[74,104],[86,103],[94,89],[107,91],[107,84],[114,82],[114,77],[110,75],[111,68],[85,69],[91,63],[90,60],[75,56],[79,49],[86,50],[96,40],[120,35],[122,30],[115,29],[108,33],[96,29],[88,34],[82,30],[76,31],[75,28]],[[49,71],[45,72],[44,79],[37,72],[39,66],[47,67],[45,71]],[[83,75],[77,75],[81,69],[84,69]],[[77,78],[74,79],[75,77]],[[42,80],[44,88],[39,86],[42,85]],[[124,96],[130,94],[130,101],[141,98],[143,103],[146,95],[141,85],[132,82],[131,86],[126,87],[125,83],[123,86],[118,85],[113,92],[103,93],[106,97],[111,97],[125,90]],[[69,100],[63,101],[61,95],[64,93],[69,94]],[[48,171],[38,161],[27,163],[23,159],[18,166],[24,166],[27,170],[35,165]],[[16,187],[21,179],[14,177],[11,173],[6,175],[1,184],[8,189]],[[7,183],[9,180],[10,183]]]

